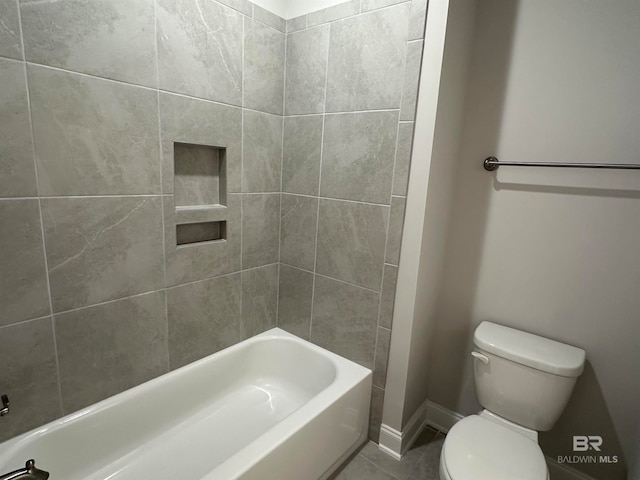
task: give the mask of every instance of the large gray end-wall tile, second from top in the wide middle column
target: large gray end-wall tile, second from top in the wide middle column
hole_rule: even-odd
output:
[[[320,195],[388,205],[397,126],[395,111],[328,115]]]

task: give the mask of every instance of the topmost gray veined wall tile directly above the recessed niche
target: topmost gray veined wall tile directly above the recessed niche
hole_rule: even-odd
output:
[[[240,105],[243,15],[213,1],[157,4],[160,88]]]

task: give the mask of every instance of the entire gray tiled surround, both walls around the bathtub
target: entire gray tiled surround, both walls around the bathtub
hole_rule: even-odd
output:
[[[374,369],[377,439],[425,12],[0,0],[0,441],[275,325]],[[175,143],[222,242],[177,247]]]

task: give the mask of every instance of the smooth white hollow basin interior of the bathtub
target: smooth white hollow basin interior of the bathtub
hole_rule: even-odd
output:
[[[35,458],[53,479],[202,478],[335,383],[332,357],[305,344],[218,352],[0,445],[2,471]]]

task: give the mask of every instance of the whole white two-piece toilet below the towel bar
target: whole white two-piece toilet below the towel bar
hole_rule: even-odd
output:
[[[491,322],[473,337],[476,393],[484,410],[458,422],[440,457],[441,480],[548,480],[538,431],[564,410],[586,354]]]

